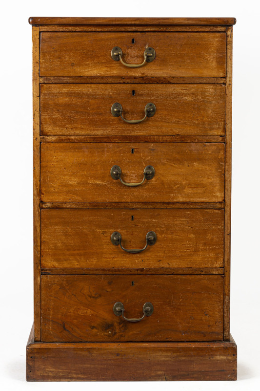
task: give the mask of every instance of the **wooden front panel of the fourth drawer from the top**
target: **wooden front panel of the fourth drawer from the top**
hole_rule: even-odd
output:
[[[156,242],[140,253],[111,241],[119,232],[123,248],[142,249],[150,231]],[[42,268],[223,267],[223,249],[223,210],[41,211]]]

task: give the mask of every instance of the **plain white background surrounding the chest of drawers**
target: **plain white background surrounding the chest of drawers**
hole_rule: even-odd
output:
[[[2,390],[260,389],[259,1],[4,1],[0,45],[0,355]],[[233,71],[231,333],[237,382],[26,383],[33,322],[32,73],[30,16],[236,17]],[[119,369],[120,370],[120,369]]]

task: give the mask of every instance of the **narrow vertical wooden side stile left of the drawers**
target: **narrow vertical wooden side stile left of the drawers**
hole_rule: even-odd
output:
[[[40,84],[39,27],[32,28],[33,57],[33,257],[34,257],[34,332],[40,341]]]

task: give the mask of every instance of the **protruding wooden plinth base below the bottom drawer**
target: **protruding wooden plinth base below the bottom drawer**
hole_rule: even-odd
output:
[[[27,381],[236,380],[237,345],[226,342],[35,343]],[[140,365],[141,363],[141,365]]]

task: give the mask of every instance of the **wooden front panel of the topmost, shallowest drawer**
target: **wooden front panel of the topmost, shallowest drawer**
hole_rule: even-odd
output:
[[[133,43],[134,42],[134,43]],[[152,62],[129,68],[114,61],[113,47],[122,60],[141,64],[152,47]],[[119,57],[117,57],[119,58]],[[42,32],[40,76],[198,76],[225,77],[226,33],[92,33]]]

